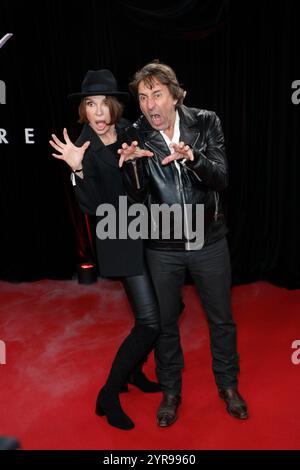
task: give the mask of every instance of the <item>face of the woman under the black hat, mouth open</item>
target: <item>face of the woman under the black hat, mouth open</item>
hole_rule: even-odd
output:
[[[111,129],[111,116],[106,96],[88,96],[85,98],[85,111],[87,120],[96,134],[103,136]]]

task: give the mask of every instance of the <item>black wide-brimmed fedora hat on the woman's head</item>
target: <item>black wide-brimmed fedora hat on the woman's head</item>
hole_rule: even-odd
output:
[[[110,70],[88,70],[81,84],[81,92],[71,93],[69,99],[84,98],[85,96],[115,96],[122,101],[127,101],[129,93],[119,91],[117,80]]]

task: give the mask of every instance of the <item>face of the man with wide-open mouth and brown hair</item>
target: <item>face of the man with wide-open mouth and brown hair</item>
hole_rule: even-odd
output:
[[[174,128],[177,100],[171,95],[169,88],[156,78],[152,88],[141,81],[138,86],[140,108],[150,125],[159,131]]]

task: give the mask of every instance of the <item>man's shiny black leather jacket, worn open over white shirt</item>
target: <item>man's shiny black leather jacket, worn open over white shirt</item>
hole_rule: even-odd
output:
[[[220,205],[219,191],[228,184],[224,136],[220,120],[214,112],[178,107],[180,117],[180,141],[189,145],[194,161],[179,161],[163,166],[161,161],[170,155],[170,149],[159,131],[142,116],[126,130],[126,141],[139,142],[141,148],[151,150],[151,158],[137,158],[124,165],[124,184],[132,202],[147,204],[204,205],[204,244],[212,243],[227,233]],[[182,212],[184,214],[184,212]],[[184,222],[183,222],[184,223]],[[195,228],[195,227],[194,227]],[[185,232],[186,234],[186,232]],[[180,240],[149,239],[149,246],[159,250],[190,250],[188,237]],[[201,248],[201,247],[200,247]]]

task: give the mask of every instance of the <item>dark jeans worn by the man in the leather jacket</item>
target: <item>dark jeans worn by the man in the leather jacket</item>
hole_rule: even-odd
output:
[[[147,249],[147,260],[161,315],[162,332],[157,341],[155,357],[162,389],[170,394],[181,393],[184,362],[178,318],[186,269],[194,280],[208,320],[212,367],[217,386],[236,386],[239,358],[236,325],[231,313],[227,240],[222,238],[197,251]]]

